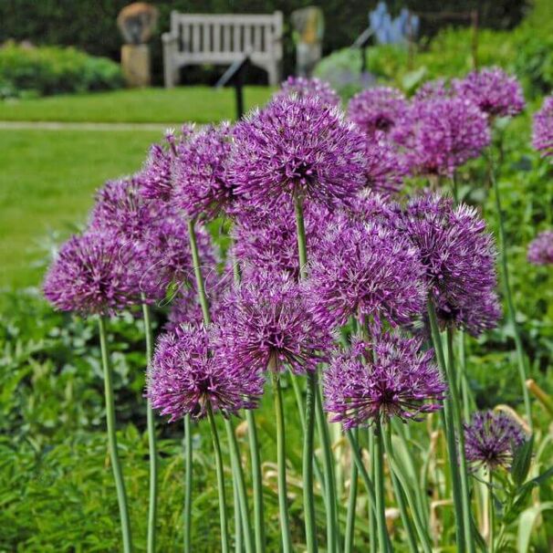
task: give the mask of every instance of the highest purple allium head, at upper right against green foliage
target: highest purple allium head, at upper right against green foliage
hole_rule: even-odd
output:
[[[513,116],[524,108],[520,83],[500,68],[473,71],[454,79],[452,88],[459,98],[470,100],[490,117]]]

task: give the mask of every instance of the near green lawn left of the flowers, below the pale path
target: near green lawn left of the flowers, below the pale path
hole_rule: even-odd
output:
[[[140,169],[156,132],[1,130],[0,287],[37,285],[49,232],[85,221],[94,191]],[[40,245],[42,243],[42,246]]]

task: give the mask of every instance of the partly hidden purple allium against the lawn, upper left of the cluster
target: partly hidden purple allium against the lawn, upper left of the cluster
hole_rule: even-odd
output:
[[[172,162],[177,147],[186,142],[192,134],[193,126],[185,125],[178,135],[175,135],[173,130],[168,130],[162,144],[151,146],[150,155],[140,175],[141,194],[145,198],[169,200],[173,186]]]

